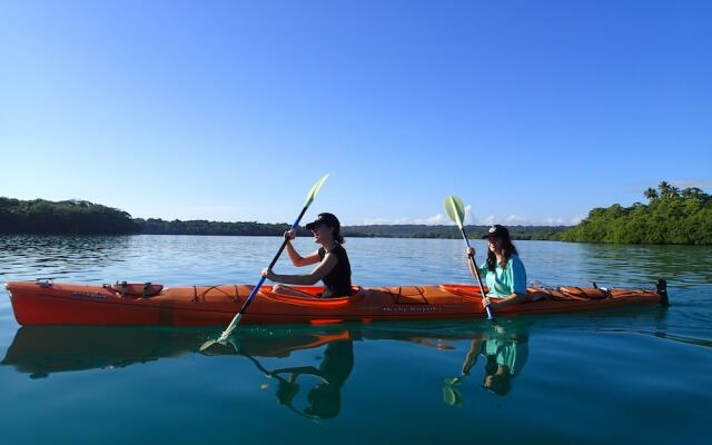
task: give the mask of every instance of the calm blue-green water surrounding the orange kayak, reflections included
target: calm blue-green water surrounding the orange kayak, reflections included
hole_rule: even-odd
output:
[[[279,243],[0,237],[0,281],[251,284]],[[298,239],[297,247],[314,245]],[[349,239],[346,247],[359,285],[471,281],[458,240]],[[219,329],[21,328],[2,288],[0,439],[708,443],[712,249],[517,247],[530,280],[652,287],[666,278],[673,306],[501,319],[496,329],[482,319],[241,327],[239,353],[204,355],[199,345]],[[281,260],[276,270],[296,269]],[[463,367],[469,374],[459,378]]]

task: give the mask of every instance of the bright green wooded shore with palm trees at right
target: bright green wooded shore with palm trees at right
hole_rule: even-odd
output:
[[[712,196],[696,187],[680,190],[666,181],[646,189],[647,205],[594,208],[561,235],[564,241],[712,245]]]

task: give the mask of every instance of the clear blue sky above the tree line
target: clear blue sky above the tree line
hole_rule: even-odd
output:
[[[710,1],[3,1],[0,196],[571,224],[712,187]],[[309,216],[307,216],[308,218]]]

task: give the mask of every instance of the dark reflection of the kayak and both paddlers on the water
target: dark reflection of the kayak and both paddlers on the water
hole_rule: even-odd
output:
[[[281,406],[303,417],[328,419],[338,416],[347,402],[343,389],[355,369],[356,342],[397,340],[432,348],[434,354],[469,349],[463,356],[461,377],[448,379],[443,388],[446,402],[462,405],[457,387],[467,374],[474,374],[481,356],[483,386],[506,394],[510,380],[526,362],[528,335],[508,324],[494,329],[484,322],[243,327],[230,336],[229,344],[200,353],[200,345],[215,337],[214,330],[26,326],[17,330],[1,364],[30,378],[44,378],[55,373],[121,368],[190,354],[236,356],[255,365],[266,377],[260,387],[269,389]],[[300,350],[315,350],[318,357],[295,354]],[[293,366],[284,365],[286,357]]]

